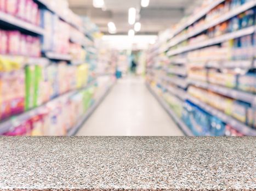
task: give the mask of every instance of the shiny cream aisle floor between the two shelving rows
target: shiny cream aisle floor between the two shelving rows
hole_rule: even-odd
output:
[[[83,136],[184,135],[151,95],[141,77],[118,80],[79,130]]]

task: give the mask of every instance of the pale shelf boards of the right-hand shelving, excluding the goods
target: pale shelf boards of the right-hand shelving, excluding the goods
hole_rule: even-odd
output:
[[[246,71],[249,71],[249,69],[256,68],[255,57],[254,58],[250,57],[247,59],[244,58],[244,60],[234,60],[234,61],[232,60],[212,61],[211,58],[207,59],[205,57],[204,58],[198,57],[196,58],[198,60],[194,61],[194,60],[190,60],[187,57],[187,53],[190,51],[202,49],[208,46],[219,45],[231,39],[244,37],[246,35],[252,35],[256,32],[255,24],[254,26],[242,28],[230,33],[221,34],[216,37],[194,42],[185,46],[182,46],[180,44],[180,43],[183,43],[185,40],[189,40],[192,37],[196,37],[197,35],[206,32],[208,29],[214,26],[217,26],[225,21],[232,19],[236,15],[239,15],[249,9],[256,7],[256,0],[248,1],[247,3],[244,3],[242,5],[239,5],[239,6],[237,5],[236,8],[226,11],[226,13],[224,14],[218,15],[218,17],[215,17],[215,19],[212,19],[211,22],[205,21],[204,23],[202,23],[202,25],[192,29],[191,31],[186,31],[185,34],[181,34],[181,32],[187,29],[187,27],[193,25],[198,20],[203,19],[203,17],[206,16],[210,10],[214,9],[219,4],[224,3],[225,1],[226,0],[212,1],[212,3],[208,5],[208,7],[203,8],[200,12],[196,13],[194,16],[188,17],[188,19],[186,19],[184,23],[181,23],[178,28],[172,30],[174,32],[170,33],[171,30],[167,29],[170,35],[166,35],[165,34],[166,32],[163,32],[163,35],[158,38],[158,39],[161,39],[161,41],[159,40],[158,43],[156,43],[155,46],[152,46],[152,49],[149,51],[150,59],[148,60],[148,62],[151,61],[150,69],[152,71],[151,73],[148,73],[147,79],[152,84],[156,84],[157,82],[157,86],[160,86],[160,87],[166,86],[166,89],[164,90],[168,91],[173,96],[180,98],[181,100],[183,100],[183,102],[185,102],[186,100],[189,100],[190,102],[194,103],[199,108],[201,108],[202,110],[208,112],[210,115],[215,116],[219,118],[221,121],[223,121],[225,124],[232,126],[232,128],[236,129],[241,134],[255,135],[256,130],[253,129],[252,127],[248,127],[246,124],[236,120],[235,118],[228,116],[223,112],[213,108],[212,106],[209,106],[208,104],[201,102],[201,100],[198,100],[197,98],[188,95],[185,90],[186,88],[189,88],[190,85],[197,86],[204,89],[208,89],[209,91],[218,93],[222,96],[226,96],[226,97],[240,100],[242,102],[246,102],[250,104],[252,107],[256,106],[256,95],[253,93],[244,92],[244,91],[240,91],[239,89],[232,89],[232,88],[224,87],[221,85],[215,85],[208,82],[187,79],[187,75],[185,75],[189,69],[189,64],[190,66],[198,65],[199,67],[202,67],[205,69],[208,69],[208,68],[219,69],[220,72],[225,72],[226,69],[232,69],[234,71],[238,71],[238,69],[241,69],[241,71],[245,73]],[[158,47],[158,49],[156,47]],[[175,47],[177,48],[175,49]],[[157,61],[161,60],[161,58],[166,56],[169,57],[169,63],[168,65],[165,65],[162,68],[162,70],[166,74],[172,74],[174,76],[177,75],[177,77],[169,77],[166,75],[164,76],[155,75],[154,77],[152,77],[152,74],[155,73],[154,66],[157,64]],[[170,67],[170,65],[174,65],[175,67],[174,66]],[[184,68],[184,67],[186,67],[187,69],[182,70],[181,68]],[[169,86],[168,83],[170,83],[171,85]],[[158,96],[160,97],[160,95]],[[197,126],[196,123],[195,125]]]

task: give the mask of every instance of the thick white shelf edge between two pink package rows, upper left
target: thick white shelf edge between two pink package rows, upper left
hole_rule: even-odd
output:
[[[9,23],[10,25],[25,29],[26,31],[30,31],[32,33],[36,33],[39,35],[44,35],[44,29],[33,25],[29,22],[26,21],[22,21],[21,19],[18,19],[17,17],[7,14],[7,13],[3,13],[2,11],[0,11],[0,20]]]

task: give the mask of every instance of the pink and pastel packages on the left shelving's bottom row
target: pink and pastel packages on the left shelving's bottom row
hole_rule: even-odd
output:
[[[13,127],[4,135],[63,136],[83,117],[93,101],[94,87],[61,97],[41,108],[32,117],[13,118]],[[82,103],[82,104],[81,104]]]

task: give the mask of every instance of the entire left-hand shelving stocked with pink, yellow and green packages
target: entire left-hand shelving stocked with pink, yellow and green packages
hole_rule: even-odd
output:
[[[2,0],[0,20],[0,134],[75,134],[107,91],[82,19],[65,0]]]

